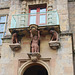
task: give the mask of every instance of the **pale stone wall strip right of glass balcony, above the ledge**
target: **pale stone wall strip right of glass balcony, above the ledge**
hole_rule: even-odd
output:
[[[68,1],[57,0],[57,11],[59,13],[60,30],[69,31]]]

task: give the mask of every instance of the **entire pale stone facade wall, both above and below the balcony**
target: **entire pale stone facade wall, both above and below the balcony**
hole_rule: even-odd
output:
[[[33,0],[34,1],[34,0]],[[43,0],[46,1],[46,0]],[[53,0],[54,1],[54,0]],[[49,3],[53,1],[49,0]],[[42,0],[40,0],[42,2]],[[3,3],[3,2],[1,2]],[[34,4],[38,1],[34,1]],[[54,1],[54,10],[58,11],[60,20],[60,30],[69,31],[69,18],[68,18],[68,5],[67,0],[57,0]],[[6,4],[5,4],[6,5]],[[7,35],[11,35],[9,28],[11,25],[11,18],[14,14],[21,14],[21,1],[12,0],[9,3],[9,19]],[[3,6],[1,6],[3,7]],[[6,7],[6,6],[5,6]],[[72,8],[70,8],[72,9]],[[4,13],[4,10],[2,10]],[[5,9],[8,13],[8,11]],[[72,52],[72,37],[71,35],[60,36],[61,47],[58,50],[52,50],[49,47],[48,42],[50,41],[50,36],[41,36],[40,39],[40,54],[41,59],[50,59],[50,62],[45,61],[49,64],[51,75],[74,75],[73,74],[73,52]],[[0,75],[18,75],[19,60],[24,59],[25,62],[30,60],[27,53],[30,53],[30,37],[24,36],[21,39],[21,50],[12,51],[9,47],[11,39],[3,39],[3,44],[1,48],[1,58],[0,58]],[[22,62],[21,64],[24,64]]]

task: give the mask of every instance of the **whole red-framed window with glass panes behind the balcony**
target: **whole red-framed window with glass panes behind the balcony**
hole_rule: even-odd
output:
[[[46,4],[29,6],[29,25],[46,25],[47,24]]]

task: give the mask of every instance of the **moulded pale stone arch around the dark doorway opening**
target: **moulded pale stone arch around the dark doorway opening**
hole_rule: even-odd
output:
[[[30,61],[27,61],[26,63],[24,63],[18,70],[18,75],[23,75],[24,71],[30,66],[34,64],[34,62],[32,62],[31,60]],[[48,75],[51,75],[50,74],[50,67],[48,66],[48,64],[46,64],[44,61],[42,60],[39,60],[38,62],[36,62],[36,64],[40,64],[42,65],[48,72]]]

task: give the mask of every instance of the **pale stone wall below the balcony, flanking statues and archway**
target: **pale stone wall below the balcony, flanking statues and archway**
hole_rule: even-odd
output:
[[[52,50],[49,47],[49,38],[49,35],[44,37],[41,36],[41,60],[51,58],[50,62],[45,61],[46,64],[49,64],[51,75],[73,75],[73,52],[71,36],[60,36],[61,47],[58,50]],[[9,47],[11,39],[3,40],[0,75],[17,75],[19,70],[19,60],[24,59],[25,62],[29,60],[27,53],[30,53],[30,42],[30,37],[23,37],[21,40],[21,50],[14,52]],[[25,62],[23,62],[23,64]]]

